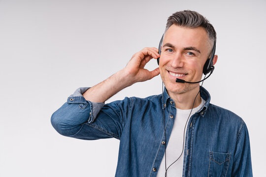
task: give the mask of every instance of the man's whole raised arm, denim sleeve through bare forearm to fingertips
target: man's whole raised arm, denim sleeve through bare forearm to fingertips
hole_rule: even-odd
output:
[[[124,69],[105,81],[90,89],[77,89],[67,98],[67,102],[52,115],[51,123],[54,128],[60,134],[74,138],[93,140],[115,137],[119,139],[123,129],[122,124],[130,110],[131,99],[125,98],[124,101],[109,103],[102,109],[103,102],[136,82],[144,82],[159,75],[159,68],[153,71],[144,69],[150,59],[157,59],[160,56],[157,52],[156,48],[144,48],[133,55]],[[100,120],[97,122],[98,118]],[[111,133],[106,136],[105,133],[95,132],[95,128],[92,129],[93,126],[96,129],[98,127],[100,132],[105,129],[106,132]]]

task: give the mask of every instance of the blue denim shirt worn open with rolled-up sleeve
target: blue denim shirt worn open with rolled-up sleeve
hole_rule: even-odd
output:
[[[85,100],[79,88],[51,118],[62,135],[120,140],[116,177],[156,177],[171,135],[176,109],[164,91],[147,98],[126,97],[109,104]],[[249,135],[242,118],[210,104],[200,88],[204,106],[187,124],[183,177],[252,177]],[[166,140],[164,118],[166,118]],[[166,141],[166,144],[162,143]]]

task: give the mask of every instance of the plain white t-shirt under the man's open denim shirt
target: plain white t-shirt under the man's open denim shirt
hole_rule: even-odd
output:
[[[205,104],[205,100],[201,98],[201,103],[198,107],[193,108],[190,117],[195,114],[199,109]],[[176,108],[176,116],[174,120],[173,129],[171,136],[168,140],[168,145],[166,148],[166,167],[165,167],[165,155],[161,162],[157,177],[165,177],[166,168],[168,168],[181,154],[182,145],[184,139],[184,128],[190,114],[190,110],[180,110]],[[189,120],[188,120],[189,122]],[[188,126],[188,125],[187,125]],[[187,131],[187,126],[185,134]],[[184,140],[185,141],[185,140]],[[184,143],[185,150],[185,143]],[[167,170],[167,177],[182,177],[183,175],[183,162],[184,162],[184,151],[181,157],[171,165]]]

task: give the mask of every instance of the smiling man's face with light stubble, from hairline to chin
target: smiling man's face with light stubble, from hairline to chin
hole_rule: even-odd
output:
[[[175,80],[200,81],[211,49],[207,32],[202,27],[190,29],[170,26],[164,36],[159,63],[167,91],[184,93],[199,86],[199,83],[176,83]]]

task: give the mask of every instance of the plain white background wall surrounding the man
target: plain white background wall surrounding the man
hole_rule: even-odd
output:
[[[253,173],[265,174],[265,0],[0,0],[0,176],[113,177],[119,141],[58,134],[51,115],[78,87],[122,69],[158,47],[167,17],[195,10],[217,32],[218,61],[203,87],[211,103],[247,124]],[[156,60],[148,69],[157,67]],[[160,94],[160,76],[124,89]]]

